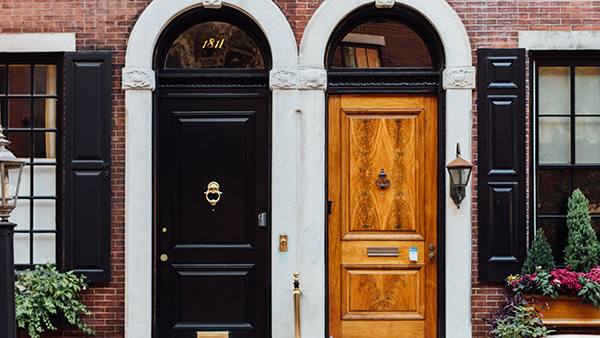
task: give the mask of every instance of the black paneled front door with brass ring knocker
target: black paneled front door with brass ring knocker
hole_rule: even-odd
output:
[[[159,98],[157,107],[157,338],[267,337],[269,99]]]

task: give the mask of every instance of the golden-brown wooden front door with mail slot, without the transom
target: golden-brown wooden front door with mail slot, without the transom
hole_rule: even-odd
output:
[[[431,95],[329,96],[328,337],[437,336],[437,118]]]

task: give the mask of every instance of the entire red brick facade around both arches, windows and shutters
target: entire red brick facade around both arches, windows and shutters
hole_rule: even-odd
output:
[[[312,14],[323,0],[275,0],[299,43]],[[150,0],[4,0],[0,33],[76,33],[77,51],[112,52],[112,277],[83,292],[94,314],[86,318],[97,337],[124,336],[125,104],[121,90],[127,39]],[[518,32],[527,30],[600,30],[600,1],[448,1],[462,20],[472,47],[517,47]],[[477,102],[473,94],[473,161],[477,163]],[[472,330],[485,337],[483,318],[501,305],[502,285],[480,283],[477,262],[477,172],[472,200]],[[447,290],[451,292],[451,290]],[[576,328],[568,331],[585,331]],[[23,332],[21,332],[23,333]],[[21,335],[24,337],[25,335]],[[45,337],[82,336],[71,329]]]

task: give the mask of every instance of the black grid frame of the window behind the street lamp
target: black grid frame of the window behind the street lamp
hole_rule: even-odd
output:
[[[56,182],[55,182],[55,195],[54,196],[36,196],[34,194],[34,175],[30,174],[30,191],[27,196],[23,196],[22,190],[20,192],[19,200],[54,200],[55,201],[55,229],[54,230],[37,230],[34,229],[34,204],[30,203],[29,205],[29,225],[28,229],[21,230],[15,229],[15,234],[26,233],[29,234],[29,264],[15,264],[15,268],[18,271],[22,271],[25,269],[32,269],[35,265],[39,265],[40,263],[35,263],[34,261],[34,243],[33,243],[33,234],[36,233],[54,233],[55,234],[55,261],[54,265],[57,266],[58,269],[62,270],[63,267],[63,252],[64,252],[64,227],[63,227],[63,204],[64,204],[64,193],[63,193],[63,170],[64,170],[64,161],[63,161],[63,148],[64,148],[64,137],[63,137],[63,126],[64,126],[64,96],[63,96],[63,88],[64,88],[64,53],[0,53],[0,64],[8,66],[9,64],[19,64],[19,65],[30,65],[32,70],[34,65],[55,65],[56,66],[56,96],[54,95],[46,95],[46,94],[35,94],[33,91],[34,86],[34,72],[30,73],[31,83],[30,89],[31,92],[29,94],[23,95],[14,95],[19,98],[29,98],[30,100],[36,100],[40,98],[48,98],[48,97],[56,97],[56,130],[55,130],[55,142],[56,142],[56,163],[55,165],[55,174],[56,174]],[[19,131],[26,132],[24,128],[12,128],[8,123],[8,98],[12,95],[8,93],[8,67],[6,67],[6,74],[4,79],[0,79],[5,81],[6,93],[0,94],[0,121],[2,126],[4,127],[4,134],[7,139],[10,141],[11,132]],[[13,96],[13,97],[14,97]],[[30,106],[30,116],[33,117],[33,111],[35,109],[35,105]],[[52,129],[52,128],[50,128]],[[34,123],[31,124],[29,128],[29,133],[33,134],[34,132],[46,132],[50,130],[49,128],[37,128],[34,126]],[[30,149],[33,149],[34,144],[30,144]],[[10,150],[10,145],[8,146]],[[26,166],[30,166],[33,168],[35,172],[35,167],[38,166],[47,166],[46,164],[35,163],[32,161],[34,157],[34,153],[30,153],[30,158],[26,162]],[[23,185],[23,182],[21,182]],[[22,204],[22,202],[21,202]],[[19,208],[19,202],[17,201],[17,208]],[[23,206],[21,206],[23,208]]]

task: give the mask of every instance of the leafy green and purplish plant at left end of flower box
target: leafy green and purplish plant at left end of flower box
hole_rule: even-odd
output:
[[[506,305],[494,311],[490,319],[492,338],[546,337],[554,330],[548,329],[534,306],[527,303],[522,293],[502,294]]]

